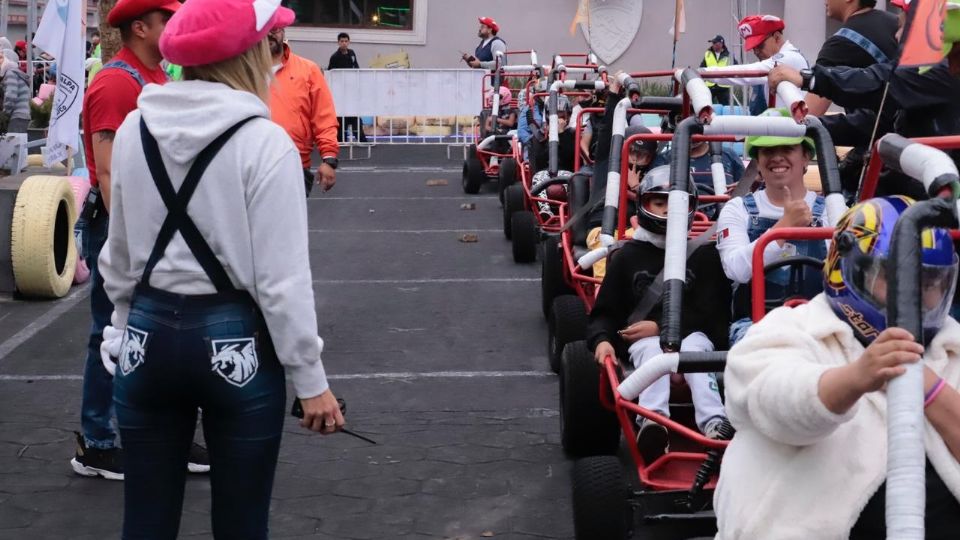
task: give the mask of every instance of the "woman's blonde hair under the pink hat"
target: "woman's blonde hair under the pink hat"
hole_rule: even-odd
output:
[[[264,38],[243,54],[228,60],[205,66],[184,66],[183,79],[223,83],[234,90],[250,92],[264,103],[269,103],[272,72],[270,45]]]

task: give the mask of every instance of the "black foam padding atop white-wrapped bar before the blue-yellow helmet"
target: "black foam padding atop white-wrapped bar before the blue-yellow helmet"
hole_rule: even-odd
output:
[[[923,246],[920,233],[925,228],[955,227],[956,201],[937,198],[907,208],[893,229],[893,244],[887,258],[887,320],[923,340],[921,310],[921,268]]]

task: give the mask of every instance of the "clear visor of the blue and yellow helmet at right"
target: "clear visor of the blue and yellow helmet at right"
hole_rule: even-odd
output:
[[[843,279],[854,292],[881,312],[887,314],[886,259],[851,254],[849,264],[844,265]],[[939,329],[943,324],[957,284],[957,255],[953,264],[924,264],[920,277],[920,300],[923,310],[923,328]]]

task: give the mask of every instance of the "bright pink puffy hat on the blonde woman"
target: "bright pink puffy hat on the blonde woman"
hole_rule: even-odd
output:
[[[216,64],[243,54],[293,19],[280,0],[190,0],[167,23],[160,52],[181,66]]]

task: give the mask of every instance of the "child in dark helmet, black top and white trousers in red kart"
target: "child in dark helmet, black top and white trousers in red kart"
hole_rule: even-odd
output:
[[[691,180],[689,220],[697,209],[696,184]],[[607,266],[597,302],[590,312],[588,342],[598,362],[616,356],[619,336],[628,347],[635,367],[661,353],[658,302],[649,313],[635,310],[647,287],[663,270],[667,230],[667,196],[670,168],[651,170],[641,181],[637,218],[640,228],[633,239],[616,250]],[[712,351],[725,348],[729,318],[724,309],[730,301],[730,283],[723,275],[720,257],[713,245],[695,251],[687,261],[687,291],[683,304],[682,351]],[[693,395],[697,427],[708,437],[724,418],[723,403],[716,379],[711,374],[684,375]],[[664,416],[670,415],[670,378],[663,377],[640,394],[640,405]],[[667,446],[663,426],[644,420],[637,434],[644,460],[651,463]]]

